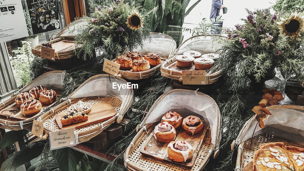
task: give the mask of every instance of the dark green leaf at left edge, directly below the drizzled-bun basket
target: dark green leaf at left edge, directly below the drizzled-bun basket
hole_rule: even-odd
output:
[[[29,131],[26,131],[24,129],[19,130],[19,131],[9,131],[6,132],[0,140],[0,152],[2,151],[3,148],[9,147],[13,145],[17,141],[24,141],[24,136],[28,133]]]

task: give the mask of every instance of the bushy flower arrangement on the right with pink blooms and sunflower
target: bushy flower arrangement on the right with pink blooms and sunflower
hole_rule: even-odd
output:
[[[303,14],[271,14],[269,9],[247,12],[244,24],[227,29],[227,38],[217,38],[223,46],[215,65],[224,73],[237,73],[235,77],[247,76],[254,85],[273,79],[275,70],[286,78],[301,77]]]

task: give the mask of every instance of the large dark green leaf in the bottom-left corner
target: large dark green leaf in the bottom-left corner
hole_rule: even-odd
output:
[[[46,140],[33,142],[19,152],[13,154],[9,159],[2,163],[0,171],[13,171],[26,162],[38,157],[43,151]]]

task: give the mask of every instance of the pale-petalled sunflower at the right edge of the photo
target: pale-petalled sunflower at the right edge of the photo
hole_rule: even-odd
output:
[[[292,12],[290,16],[281,18],[278,23],[280,29],[280,36],[290,36],[294,39],[296,36],[301,36],[300,32],[304,27],[304,16],[301,13]]]

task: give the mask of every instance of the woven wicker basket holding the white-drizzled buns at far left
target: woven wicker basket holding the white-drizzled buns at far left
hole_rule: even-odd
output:
[[[44,77],[50,77],[52,74],[62,74],[62,76],[65,75],[64,71],[51,71],[51,72],[47,72],[41,76],[39,76],[38,78],[36,78],[35,80],[33,80],[32,82],[30,82],[28,85],[24,86],[22,89],[20,89],[18,92],[12,94],[11,98],[6,100],[5,102],[0,104],[0,110],[4,110],[6,107],[11,106],[12,104],[15,103],[15,99],[17,97],[17,95],[19,94],[19,92],[28,92],[28,89],[33,88],[34,86],[36,86],[36,83],[39,82],[42,78]],[[58,82],[60,82],[60,80],[57,80]],[[37,83],[37,85],[40,85],[40,83]],[[41,84],[43,85],[43,84]],[[47,85],[43,85],[45,87],[48,87]],[[48,87],[49,88],[49,87]],[[48,107],[51,107],[53,104],[51,104]],[[32,123],[34,119],[37,119],[40,115],[42,115],[43,113],[50,113],[49,111],[41,111],[39,113],[37,113],[34,116],[31,116],[29,118],[25,117],[25,120],[16,120],[16,119],[10,119],[9,117],[0,117],[0,128],[4,128],[4,129],[8,129],[8,130],[21,130],[21,129],[31,129],[32,128]]]

